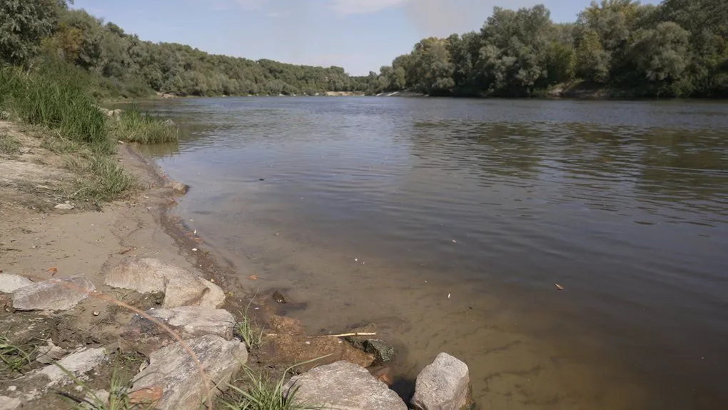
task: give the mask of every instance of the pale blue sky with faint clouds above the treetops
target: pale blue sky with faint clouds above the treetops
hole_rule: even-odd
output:
[[[545,4],[573,21],[590,0],[76,0],[152,42],[285,63],[341,66],[363,75],[427,36],[477,30],[493,6]],[[643,3],[657,3],[647,0]]]

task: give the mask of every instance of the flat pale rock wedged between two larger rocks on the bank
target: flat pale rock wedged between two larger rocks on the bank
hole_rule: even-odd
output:
[[[207,309],[197,306],[175,307],[174,309],[148,310],[146,314],[165,323],[182,337],[192,339],[214,334],[223,339],[232,339],[235,318],[227,310]],[[124,326],[122,338],[132,341],[138,352],[149,354],[175,341],[173,336],[149,319],[135,315]]]

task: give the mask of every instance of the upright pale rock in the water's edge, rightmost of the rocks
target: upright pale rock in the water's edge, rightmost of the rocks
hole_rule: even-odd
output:
[[[440,353],[417,376],[412,405],[418,410],[459,410],[467,406],[469,387],[467,365]]]

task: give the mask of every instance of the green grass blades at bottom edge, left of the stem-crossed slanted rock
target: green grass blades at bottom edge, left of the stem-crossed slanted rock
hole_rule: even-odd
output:
[[[55,365],[74,382],[74,385],[79,388],[83,395],[83,397],[76,397],[70,393],[58,393],[73,403],[74,408],[77,410],[146,410],[152,409],[154,406],[154,403],[132,403],[129,398],[132,380],[119,371],[118,365],[114,366],[114,371],[111,373],[111,385],[108,388],[108,395],[93,390],[82,379],[74,376],[71,371],[66,370],[60,364],[55,363]]]

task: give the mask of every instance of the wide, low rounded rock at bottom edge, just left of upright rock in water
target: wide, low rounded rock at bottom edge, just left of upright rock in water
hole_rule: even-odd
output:
[[[393,390],[355,364],[338,361],[292,377],[284,392],[297,388],[296,403],[340,410],[406,410]]]

